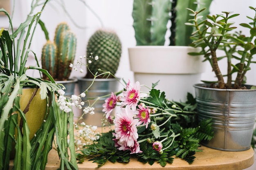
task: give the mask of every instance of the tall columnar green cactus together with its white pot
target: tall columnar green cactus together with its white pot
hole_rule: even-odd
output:
[[[192,84],[200,82],[205,66],[202,56],[187,55],[195,49],[189,46],[193,29],[184,24],[192,18],[186,8],[209,9],[210,4],[211,0],[134,0],[132,17],[137,46],[128,52],[135,81],[150,86],[160,80],[157,88],[165,91],[168,99],[177,101],[186,100],[187,92],[194,93]],[[203,16],[208,13],[205,10]]]

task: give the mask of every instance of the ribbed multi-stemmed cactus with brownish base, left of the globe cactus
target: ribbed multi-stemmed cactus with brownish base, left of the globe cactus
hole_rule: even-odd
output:
[[[76,35],[70,31],[65,22],[56,27],[54,42],[47,37],[42,49],[42,68],[47,70],[56,81],[64,81],[70,77],[76,54]],[[47,78],[43,75],[43,78]]]

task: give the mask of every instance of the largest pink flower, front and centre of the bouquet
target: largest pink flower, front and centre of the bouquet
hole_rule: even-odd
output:
[[[125,142],[126,146],[133,147],[134,141],[138,139],[137,127],[138,119],[133,119],[134,112],[129,106],[120,108],[120,113],[116,114],[114,119],[115,137],[120,142]]]

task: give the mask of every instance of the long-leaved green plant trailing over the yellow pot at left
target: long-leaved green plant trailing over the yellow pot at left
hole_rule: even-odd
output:
[[[27,19],[14,31],[12,20],[5,9],[0,9],[9,18],[9,30],[0,30],[0,169],[8,170],[11,150],[16,154],[13,160],[14,170],[44,170],[47,156],[56,136],[57,152],[61,159],[60,169],[78,169],[74,148],[74,130],[68,127],[73,124],[73,112],[64,113],[57,102],[61,86],[54,82],[52,76],[40,68],[36,54],[31,50],[33,39],[40,15],[48,0],[33,0]],[[35,13],[35,9],[40,11]],[[42,27],[43,28],[43,27]],[[44,29],[44,28],[43,28]],[[37,66],[26,66],[28,54],[33,53]],[[28,69],[35,69],[45,74],[49,80],[29,77]],[[27,110],[20,109],[22,88],[40,88],[41,99],[47,100],[45,120],[29,140],[29,128],[26,120]],[[28,107],[30,102],[27,104]],[[18,126],[18,115],[23,127]],[[21,130],[22,129],[22,130]],[[17,130],[17,135],[15,134]],[[67,136],[69,135],[69,143]],[[14,144],[14,147],[12,146]]]

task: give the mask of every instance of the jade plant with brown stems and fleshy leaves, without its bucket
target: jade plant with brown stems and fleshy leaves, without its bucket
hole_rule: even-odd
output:
[[[256,12],[256,8],[249,7]],[[245,74],[249,71],[253,56],[256,54],[256,13],[253,17],[247,16],[248,23],[241,23],[248,31],[243,34],[242,31],[236,31],[233,26],[235,17],[239,14],[222,12],[217,15],[207,15],[206,20],[202,20],[202,12],[205,10],[191,11],[193,19],[186,25],[195,28],[191,34],[192,46],[201,48],[199,53],[190,53],[191,55],[204,55],[205,60],[209,61],[218,81],[207,82],[216,88],[245,88]],[[218,51],[224,51],[224,56],[218,56]],[[223,74],[220,68],[220,60],[227,60],[227,74]],[[232,63],[233,62],[233,63]],[[235,63],[234,63],[235,62]],[[232,77],[236,73],[236,78]],[[224,81],[227,77],[227,81]],[[217,83],[217,84],[216,84]]]

